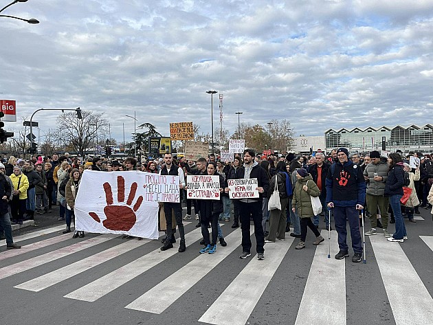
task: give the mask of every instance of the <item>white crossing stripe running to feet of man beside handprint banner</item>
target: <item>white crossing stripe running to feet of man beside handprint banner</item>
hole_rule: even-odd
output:
[[[188,247],[199,239],[201,239],[201,229],[192,230],[185,236],[186,246]],[[177,249],[168,249],[168,251],[164,252],[160,251],[159,248],[155,249],[149,254],[120,267],[120,269],[116,269],[106,276],[102,276],[102,278],[65,295],[65,298],[94,302],[176,253]]]

